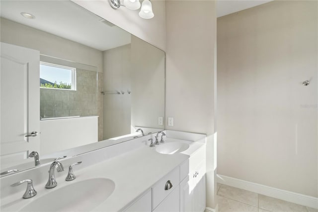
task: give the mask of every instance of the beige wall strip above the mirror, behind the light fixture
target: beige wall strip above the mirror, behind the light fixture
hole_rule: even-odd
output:
[[[139,10],[121,6],[113,9],[107,0],[73,0],[80,6],[110,21],[129,33],[165,50],[165,0],[152,0],[155,16],[143,19]]]

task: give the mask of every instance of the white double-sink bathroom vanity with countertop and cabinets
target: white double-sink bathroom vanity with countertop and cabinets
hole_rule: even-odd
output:
[[[148,141],[154,139],[154,135],[148,135],[61,159],[64,171],[55,173],[58,185],[52,189],[45,188],[50,164],[4,176],[0,179],[0,209],[202,212],[205,209],[206,136],[164,132],[167,135],[164,143],[155,147],[150,147]],[[73,168],[76,179],[66,181],[67,167],[79,161],[82,163]],[[33,181],[36,196],[22,199],[26,185],[10,187],[24,179]],[[56,204],[50,204],[53,200]]]

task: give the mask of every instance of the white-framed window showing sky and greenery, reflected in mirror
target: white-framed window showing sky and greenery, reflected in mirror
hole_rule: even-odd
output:
[[[76,91],[76,68],[40,62],[40,88]]]

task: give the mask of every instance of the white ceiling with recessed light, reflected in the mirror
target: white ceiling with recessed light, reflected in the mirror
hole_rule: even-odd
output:
[[[0,4],[1,17],[94,49],[104,51],[131,42],[130,33],[72,1],[1,0]],[[24,18],[21,12],[31,13],[35,19]]]

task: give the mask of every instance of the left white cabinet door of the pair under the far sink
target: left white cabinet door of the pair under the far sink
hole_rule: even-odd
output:
[[[195,211],[195,192],[190,187],[190,182],[185,180],[180,184],[180,212]]]

